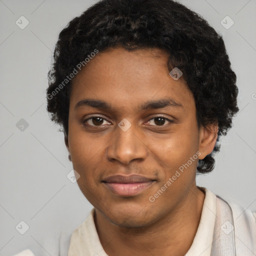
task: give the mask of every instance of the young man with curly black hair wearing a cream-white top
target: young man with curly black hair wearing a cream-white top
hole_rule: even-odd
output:
[[[238,112],[220,35],[172,0],[101,0],[59,34],[47,110],[94,206],[59,254],[256,255],[253,213],[195,183]]]

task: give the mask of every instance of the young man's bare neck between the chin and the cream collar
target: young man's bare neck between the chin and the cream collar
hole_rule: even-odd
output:
[[[185,201],[145,227],[120,227],[95,210],[94,222],[99,240],[109,256],[175,255],[183,256],[190,248],[199,225],[204,193],[194,185]]]

